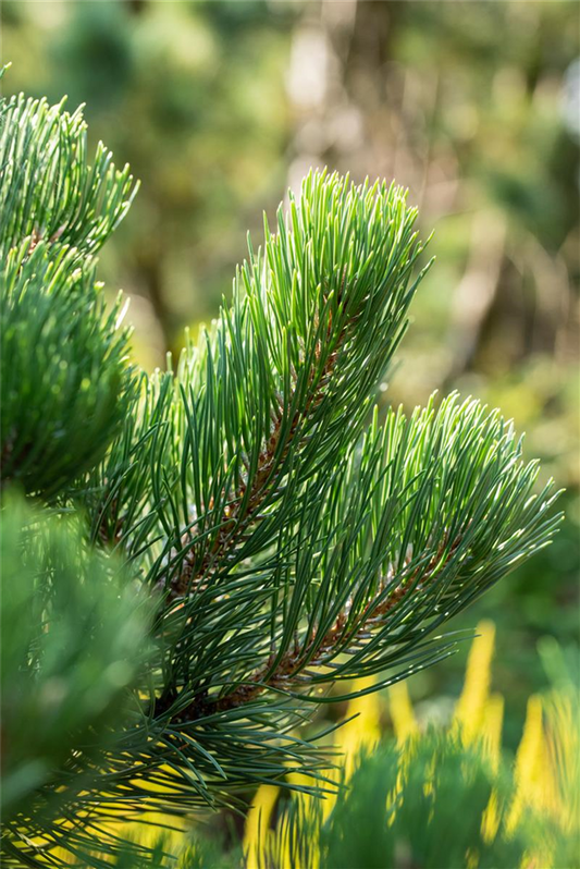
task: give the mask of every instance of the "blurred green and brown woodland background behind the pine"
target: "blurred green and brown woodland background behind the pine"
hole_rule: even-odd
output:
[[[395,179],[437,262],[381,401],[434,389],[499,405],[566,488],[557,541],[455,627],[497,625],[506,745],[542,689],[536,642],[580,627],[579,144],[576,0],[3,0],[5,95],[86,102],[89,137],[141,189],[101,257],[131,296],[147,369],[215,316],[311,166]],[[429,715],[465,651],[409,682]]]

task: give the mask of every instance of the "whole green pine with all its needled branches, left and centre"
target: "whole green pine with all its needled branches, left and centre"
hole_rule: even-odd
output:
[[[62,103],[0,124],[0,849],[151,865],[120,820],[323,786],[300,725],[452,653],[442,626],[550,541],[555,494],[477,401],[379,418],[423,273],[399,188],[311,172],[147,377],[95,278],[128,170]]]

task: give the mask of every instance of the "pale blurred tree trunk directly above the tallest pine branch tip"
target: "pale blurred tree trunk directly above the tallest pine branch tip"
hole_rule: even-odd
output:
[[[293,36],[288,93],[295,115],[291,186],[310,166],[388,175],[400,106],[388,63],[405,3],[320,0]],[[395,97],[398,99],[398,96]]]

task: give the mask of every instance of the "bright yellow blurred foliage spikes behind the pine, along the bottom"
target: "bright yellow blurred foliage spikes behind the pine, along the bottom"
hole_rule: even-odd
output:
[[[502,727],[504,718],[504,698],[490,693],[492,681],[491,665],[494,653],[495,628],[491,622],[478,625],[479,636],[473,640],[461,695],[456,703],[451,733],[459,733],[466,745],[478,743],[490,760],[494,770],[498,769],[502,756]],[[355,691],[372,688],[374,677],[359,680],[354,683]],[[335,734],[335,747],[342,751],[343,769],[335,771],[334,781],[341,778],[347,781],[353,773],[356,758],[362,748],[372,748],[381,737],[381,696],[375,693],[363,694],[351,700],[346,709],[348,721]],[[388,688],[388,706],[394,734],[399,745],[406,745],[402,757],[398,781],[391,792],[391,798],[404,785],[408,763],[412,760],[415,739],[420,734],[420,725],[415,715],[407,685],[396,683]],[[580,805],[580,733],[576,722],[573,699],[566,691],[553,691],[543,702],[539,696],[528,701],[526,723],[514,764],[516,793],[508,808],[507,827],[515,831],[527,808],[551,815],[560,828],[566,831],[579,825]],[[333,775],[330,776],[331,781]],[[291,783],[300,785],[308,783],[299,773],[288,775]],[[425,785],[429,788],[431,785]],[[273,828],[272,817],[279,799],[280,788],[262,785],[258,788],[252,808],[248,812],[245,825],[243,848],[247,859],[247,869],[263,866],[263,854],[268,842],[276,842],[276,852],[283,857],[283,865],[293,869],[318,869],[318,842],[311,842],[308,854],[301,858],[296,853],[293,836],[295,828],[288,817],[282,818]],[[311,817],[314,797],[295,792],[293,800],[299,807],[301,817]],[[321,808],[322,819],[326,819],[335,804],[335,797],[328,794]],[[162,823],[162,817],[147,818],[150,827],[131,824],[124,828],[140,844],[152,844],[159,835],[156,821]],[[490,803],[482,816],[481,829],[486,841],[492,841],[501,823],[501,811],[497,795],[492,794]],[[176,850],[183,843],[183,833],[171,834],[168,844]],[[292,855],[292,859],[291,859]],[[64,856],[59,853],[59,856]],[[304,866],[301,865],[304,864]],[[478,858],[469,855],[469,865],[476,869]],[[550,854],[530,854],[526,866],[550,866]],[[554,869],[554,868],[553,868]]]

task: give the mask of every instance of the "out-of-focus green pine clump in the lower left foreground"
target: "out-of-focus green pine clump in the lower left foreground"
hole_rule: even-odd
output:
[[[71,793],[99,780],[95,760],[118,738],[126,688],[150,653],[150,613],[121,563],[86,548],[75,519],[47,517],[14,492],[1,506],[4,846],[18,810],[40,835]]]

